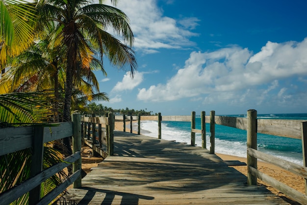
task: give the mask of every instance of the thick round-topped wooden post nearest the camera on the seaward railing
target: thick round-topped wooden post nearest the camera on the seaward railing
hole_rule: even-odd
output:
[[[247,147],[257,149],[257,111],[247,111]],[[257,158],[247,154],[247,184],[257,185],[257,176],[250,173],[250,167],[257,169]]]

